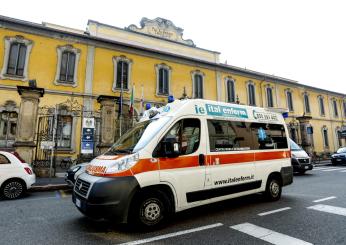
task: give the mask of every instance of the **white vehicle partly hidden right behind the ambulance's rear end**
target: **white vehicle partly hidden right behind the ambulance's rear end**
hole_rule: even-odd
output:
[[[313,166],[309,155],[291,139],[290,145],[293,171],[304,174],[307,170],[311,170]]]

